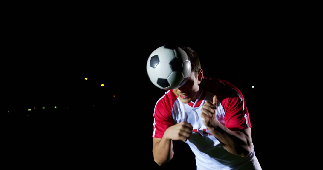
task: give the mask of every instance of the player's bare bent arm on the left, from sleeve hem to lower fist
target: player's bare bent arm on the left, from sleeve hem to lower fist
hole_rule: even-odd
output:
[[[180,122],[168,127],[162,138],[153,138],[152,153],[158,165],[163,165],[174,156],[172,140],[186,141],[192,134],[193,127],[186,122]]]

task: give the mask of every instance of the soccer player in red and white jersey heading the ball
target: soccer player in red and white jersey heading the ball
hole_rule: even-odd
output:
[[[240,90],[227,81],[203,77],[196,52],[181,48],[191,61],[192,72],[183,86],[168,90],[155,105],[155,162],[170,161],[172,140],[182,140],[195,154],[197,169],[261,169]]]

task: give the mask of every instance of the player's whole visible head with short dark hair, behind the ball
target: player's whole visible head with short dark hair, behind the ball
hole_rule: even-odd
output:
[[[192,99],[197,99],[199,96],[198,91],[200,90],[199,84],[203,79],[203,70],[201,69],[200,59],[196,52],[190,47],[182,48],[187,56],[189,57],[192,65],[192,71],[190,78],[186,83],[173,91],[183,103],[189,103]]]

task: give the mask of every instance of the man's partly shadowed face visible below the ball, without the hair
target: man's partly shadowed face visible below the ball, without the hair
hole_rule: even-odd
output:
[[[198,80],[198,75],[195,75],[192,71],[190,78],[186,83],[182,87],[174,89],[173,91],[183,103],[189,103],[192,99],[196,99],[198,97],[195,95],[200,90],[200,83],[201,81]]]

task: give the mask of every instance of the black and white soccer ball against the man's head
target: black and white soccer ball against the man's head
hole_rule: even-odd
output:
[[[176,46],[164,45],[157,48],[147,61],[149,79],[164,90],[181,87],[190,77],[191,70],[191,61],[186,52]]]

